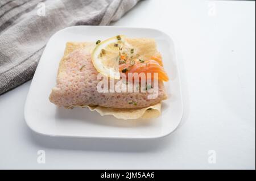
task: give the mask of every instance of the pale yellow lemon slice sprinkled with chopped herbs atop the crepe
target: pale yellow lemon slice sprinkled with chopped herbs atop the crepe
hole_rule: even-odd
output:
[[[125,36],[115,36],[101,41],[92,52],[92,62],[96,70],[110,78],[120,79],[119,50],[125,43]]]

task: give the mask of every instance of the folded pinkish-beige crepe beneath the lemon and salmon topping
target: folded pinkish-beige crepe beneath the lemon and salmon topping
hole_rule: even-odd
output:
[[[160,55],[154,39],[127,39],[147,60]],[[66,44],[64,56],[57,73],[57,84],[52,89],[49,100],[56,106],[65,108],[88,107],[101,115],[113,115],[118,119],[153,118],[160,115],[161,101],[167,99],[162,81],[158,81],[158,95],[148,99],[146,92],[98,92],[97,70],[91,53],[95,43]],[[117,82],[117,81],[115,81]],[[130,104],[130,101],[136,104]]]

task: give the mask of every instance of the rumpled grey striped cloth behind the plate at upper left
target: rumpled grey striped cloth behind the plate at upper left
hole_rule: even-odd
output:
[[[46,43],[69,26],[108,25],[139,0],[1,0],[0,95],[30,80]]]

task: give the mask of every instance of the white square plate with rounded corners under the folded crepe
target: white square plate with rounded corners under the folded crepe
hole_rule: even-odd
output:
[[[97,41],[116,35],[151,37],[163,56],[170,81],[165,83],[169,99],[162,104],[162,113],[152,120],[119,120],[100,116],[87,108],[66,110],[49,102],[56,84],[59,61],[67,41]],[[170,134],[179,125],[183,105],[174,41],[165,33],[147,28],[76,26],[61,30],[51,37],[44,49],[28,92],[24,117],[33,131],[49,136],[93,138],[158,138]]]

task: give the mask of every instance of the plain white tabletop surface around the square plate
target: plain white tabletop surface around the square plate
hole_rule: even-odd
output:
[[[157,140],[40,136],[23,117],[29,81],[0,96],[0,169],[255,169],[255,1],[142,1],[113,25],[176,40],[180,126]]]

